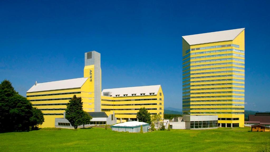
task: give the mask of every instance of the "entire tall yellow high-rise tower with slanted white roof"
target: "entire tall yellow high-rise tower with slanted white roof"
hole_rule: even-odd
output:
[[[244,127],[245,29],[187,35],[182,42],[183,114],[218,115],[219,127]]]

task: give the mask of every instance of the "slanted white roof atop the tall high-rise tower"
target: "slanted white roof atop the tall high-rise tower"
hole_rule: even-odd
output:
[[[245,28],[231,29],[226,31],[210,32],[183,36],[189,45],[204,44],[211,42],[231,41],[237,37]]]

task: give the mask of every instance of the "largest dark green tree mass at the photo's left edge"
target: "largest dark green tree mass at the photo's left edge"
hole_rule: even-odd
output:
[[[8,80],[0,84],[0,131],[28,131],[32,104]]]

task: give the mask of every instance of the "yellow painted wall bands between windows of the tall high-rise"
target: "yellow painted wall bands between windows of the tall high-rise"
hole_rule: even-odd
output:
[[[214,43],[207,43],[207,44],[198,44],[198,45],[189,45],[187,42],[183,40],[183,56],[187,55],[185,51],[188,47],[190,49],[192,48],[200,48],[200,47],[210,47],[210,46],[216,46],[216,45],[226,45],[226,44],[236,44],[239,45],[239,48],[236,47],[221,47],[221,48],[211,48],[211,49],[200,49],[200,50],[193,50],[188,52],[189,53],[195,53],[195,52],[204,52],[204,51],[213,51],[213,50],[221,50],[221,49],[239,49],[239,50],[245,50],[245,41],[244,41],[244,31],[242,31],[233,41],[224,41],[224,42],[214,42]],[[226,51],[226,52],[212,52],[212,53],[204,53],[204,54],[194,54],[190,55],[190,57],[200,57],[200,56],[207,56],[207,55],[217,55],[217,54],[228,54],[228,53],[234,53],[239,55],[244,55],[244,53],[235,52],[235,51]],[[213,60],[213,59],[223,59],[223,58],[238,58],[238,59],[245,59],[242,57],[236,57],[236,56],[220,56],[220,57],[208,57],[208,58],[198,58],[198,59],[190,59],[183,64],[189,62],[189,61],[201,61],[201,60]],[[187,58],[184,58],[185,60]],[[203,65],[200,67],[190,67],[187,68],[184,71],[188,70],[195,70],[195,69],[202,69],[200,71],[190,71],[188,73],[194,74],[199,72],[215,72],[215,71],[242,71],[245,70],[239,70],[235,68],[226,68],[226,69],[214,69],[214,70],[203,70],[204,68],[215,68],[215,67],[241,67],[244,68],[244,66],[241,65],[235,65],[235,64],[226,64],[226,65],[207,65],[204,64],[215,64],[215,63],[228,63],[228,62],[235,62],[235,63],[242,63],[245,62],[241,61],[234,61],[234,60],[226,60],[226,61],[212,61],[212,62],[200,62],[200,63],[191,63],[190,65],[186,65],[183,68],[193,66],[193,65]],[[185,74],[183,74],[185,75]],[[191,75],[189,76],[191,79],[183,81],[189,82],[189,81],[203,81],[203,80],[220,80],[220,79],[239,79],[239,80],[245,80],[244,78],[239,77],[233,77],[233,76],[227,76],[227,77],[211,77],[211,78],[194,78],[194,77],[205,77],[205,76],[217,76],[217,75],[242,75],[244,74],[236,74],[234,72],[227,72],[227,73],[211,73],[211,74],[197,74],[197,75]],[[189,78],[184,77],[183,79]],[[185,86],[189,85],[202,85],[202,84],[221,84],[221,83],[239,83],[244,84],[245,82],[239,82],[239,81],[213,81],[213,82],[193,82],[190,84],[185,84]],[[221,87],[238,87],[238,88],[244,88],[244,86],[238,86],[238,85],[212,85],[212,86],[191,86],[189,88],[184,88],[183,90],[191,89],[191,91],[183,92],[183,94],[187,93],[199,93],[199,92],[224,92],[224,91],[239,91],[244,92],[244,90],[235,90],[235,89],[212,89],[212,90],[192,90],[192,89],[205,89],[205,88],[221,88]],[[190,94],[183,96],[185,97],[204,97],[204,96],[224,96],[224,95],[243,95],[243,94],[234,94],[234,93],[212,93],[212,94]],[[191,113],[191,115],[209,115],[209,114],[203,114],[203,113],[214,113],[214,112],[244,112],[244,110],[185,110],[189,108],[244,108],[244,106],[234,106],[234,105],[223,105],[223,106],[193,106],[194,104],[244,104],[243,102],[234,102],[234,101],[211,101],[211,102],[194,102],[194,101],[204,101],[204,100],[244,100],[244,98],[235,98],[235,97],[226,97],[226,98],[191,98],[191,99],[183,99],[183,112],[184,113]],[[190,102],[192,101],[192,102]],[[190,103],[189,103],[190,102]],[[186,107],[185,105],[190,105]],[[192,114],[192,113],[202,113],[202,114]],[[239,118],[239,120],[219,120],[218,123],[239,123],[239,127],[244,127],[244,114],[215,114],[218,115],[219,118]]]

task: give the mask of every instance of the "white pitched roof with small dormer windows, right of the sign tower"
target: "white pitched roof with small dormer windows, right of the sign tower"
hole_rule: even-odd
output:
[[[112,95],[112,97],[115,97],[115,95],[123,97],[124,94],[127,94],[127,96],[131,96],[131,94],[136,94],[136,96],[138,96],[141,93],[145,93],[145,95],[150,95],[149,93],[154,93],[153,95],[157,95],[159,88],[160,85],[148,85],[141,87],[104,89],[102,90],[101,95],[103,95],[103,92],[110,92],[110,95]]]

